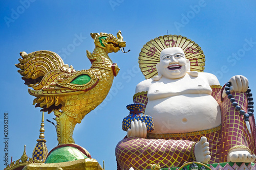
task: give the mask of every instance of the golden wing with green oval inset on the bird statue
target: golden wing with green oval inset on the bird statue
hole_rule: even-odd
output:
[[[39,90],[29,89],[31,95],[36,96],[33,101],[35,107],[43,108],[42,111],[48,111],[49,113],[54,109],[61,109],[61,97],[65,95],[79,94],[86,92],[97,85],[99,78],[94,72],[90,70],[81,70],[65,74],[60,71],[52,71],[53,75],[60,74],[53,82],[49,83],[51,76],[48,76],[46,81],[47,86],[42,87]]]

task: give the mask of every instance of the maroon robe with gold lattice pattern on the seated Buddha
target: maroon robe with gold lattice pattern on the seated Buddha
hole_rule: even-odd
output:
[[[227,96],[221,101],[221,86],[211,86],[212,96],[221,108],[221,125],[207,130],[172,133],[151,134],[147,138],[124,138],[116,146],[118,169],[150,169],[150,164],[160,163],[161,167],[179,167],[185,161],[195,161],[194,145],[202,136],[209,142],[211,159],[209,163],[227,161],[230,149],[244,148],[255,154],[255,120],[249,118],[251,133],[246,128],[243,116],[232,106]],[[247,110],[247,96],[245,92],[233,92],[243,110]],[[134,95],[134,103],[147,104],[147,93],[139,92]],[[154,117],[153,117],[154,118]]]

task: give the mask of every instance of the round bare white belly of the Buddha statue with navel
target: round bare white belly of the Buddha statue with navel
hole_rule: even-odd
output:
[[[183,94],[148,100],[145,114],[151,115],[151,133],[184,133],[211,129],[221,124],[221,111],[209,94]]]

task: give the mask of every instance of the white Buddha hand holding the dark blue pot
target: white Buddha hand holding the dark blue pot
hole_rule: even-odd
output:
[[[146,138],[146,124],[141,120],[134,120],[131,122],[131,129],[127,130],[127,137]]]

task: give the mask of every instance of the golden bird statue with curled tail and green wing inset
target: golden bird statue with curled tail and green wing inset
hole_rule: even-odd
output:
[[[91,33],[91,37],[95,48],[93,53],[87,51],[90,69],[76,71],[50,51],[20,52],[22,58],[15,64],[25,84],[33,88],[28,89],[36,97],[33,105],[54,112],[59,144],[75,143],[76,124],[106,98],[119,71],[108,54],[126,46],[121,31],[117,37],[106,33]]]

